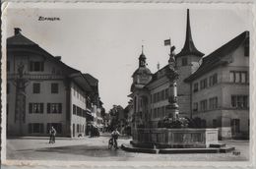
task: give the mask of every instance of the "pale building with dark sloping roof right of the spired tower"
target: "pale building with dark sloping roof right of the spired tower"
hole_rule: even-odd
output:
[[[190,84],[192,116],[219,128],[222,138],[249,136],[249,31],[203,59]]]

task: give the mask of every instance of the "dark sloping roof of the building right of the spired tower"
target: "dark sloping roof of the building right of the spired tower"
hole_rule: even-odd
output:
[[[241,34],[237,35],[223,46],[215,50],[213,53],[203,58],[202,65],[199,69],[192,74],[190,77],[184,80],[185,83],[189,83],[205,73],[213,70],[214,68],[228,63],[228,61],[223,60],[224,56],[233,52],[237,49],[241,44],[243,44],[246,40],[249,41],[249,31],[244,31]]]

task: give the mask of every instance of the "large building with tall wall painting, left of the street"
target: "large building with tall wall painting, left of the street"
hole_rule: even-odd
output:
[[[93,86],[15,28],[7,39],[7,135],[85,136]]]

